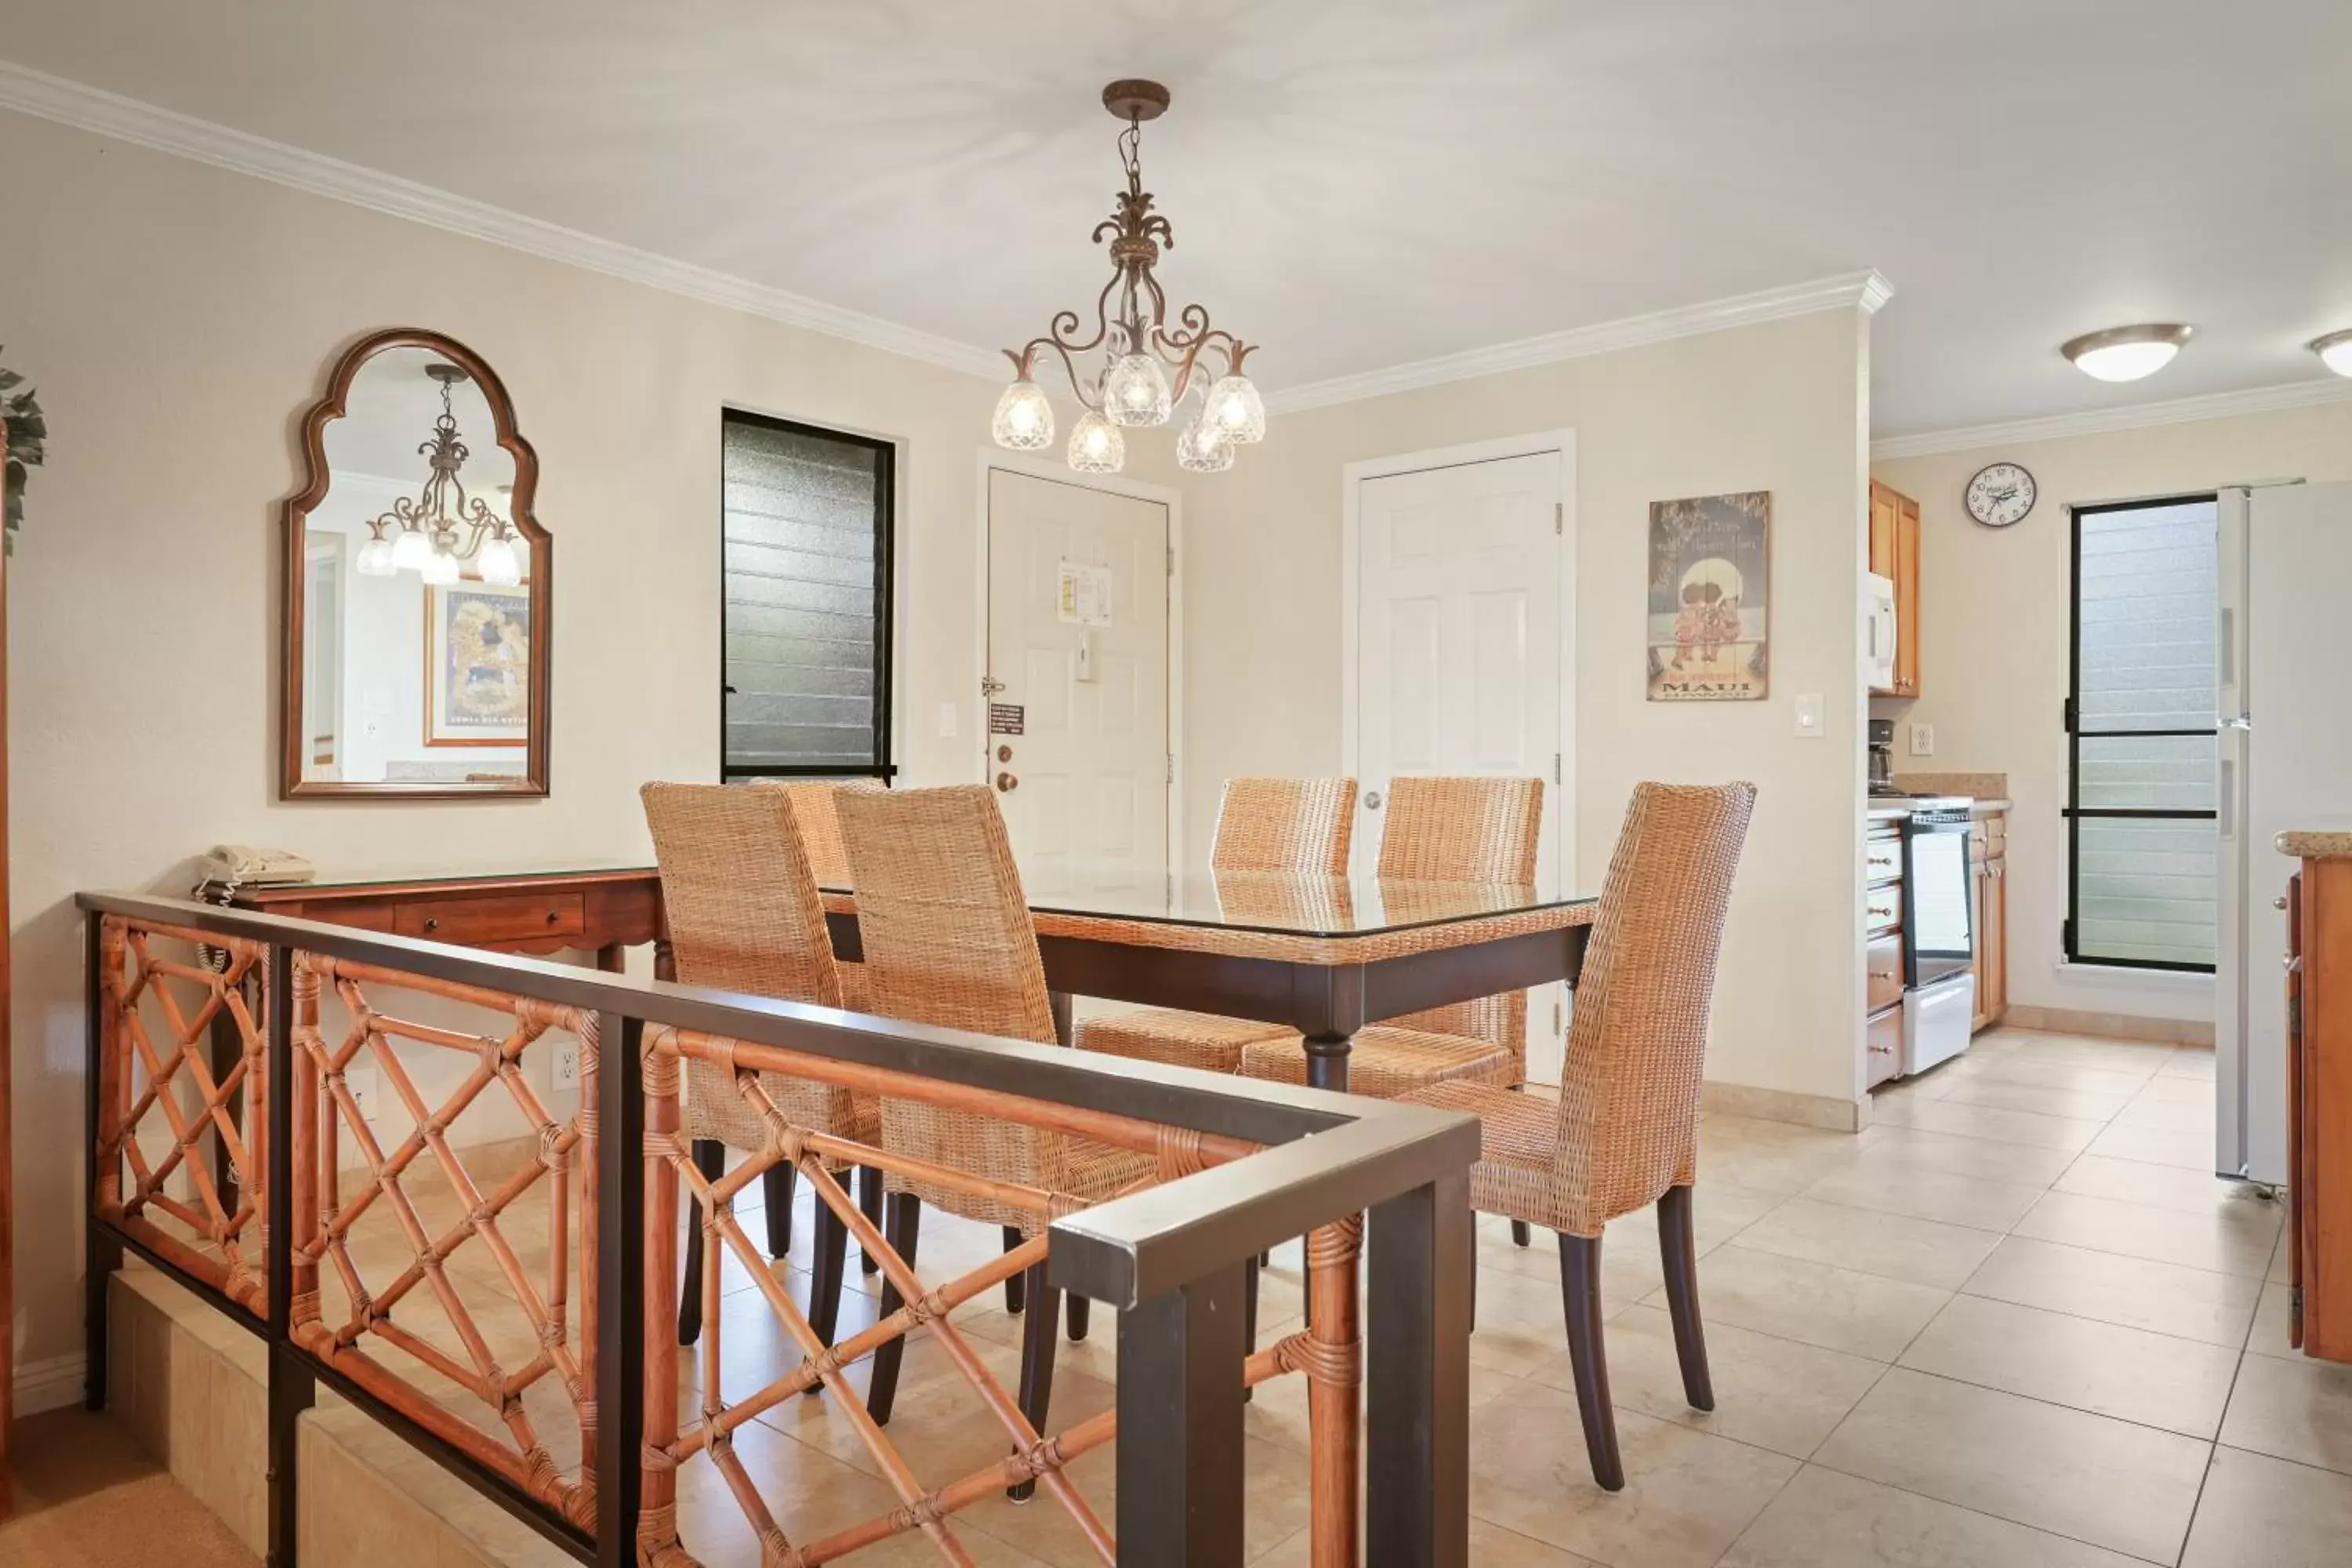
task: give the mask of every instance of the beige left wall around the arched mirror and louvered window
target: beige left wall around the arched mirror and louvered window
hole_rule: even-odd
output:
[[[0,113],[7,362],[49,414],[9,564],[19,1363],[80,1347],[75,889],[186,891],[219,839],[329,872],[644,858],[637,785],[717,776],[722,404],[903,442],[908,778],[976,776],[974,454],[995,388]],[[555,536],[553,799],[280,804],[278,505],[358,334],[506,378]],[[936,736],[941,703],[960,738]]]

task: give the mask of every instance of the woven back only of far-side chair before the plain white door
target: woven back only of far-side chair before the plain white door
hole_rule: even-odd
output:
[[[1536,879],[1536,846],[1543,832],[1541,778],[1392,778],[1383,818],[1381,877],[1522,884]],[[1526,1077],[1526,992],[1435,1006],[1390,1023],[1505,1046],[1517,1077]]]

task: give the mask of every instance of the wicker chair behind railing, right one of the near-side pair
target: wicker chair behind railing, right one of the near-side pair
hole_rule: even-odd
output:
[[[840,795],[842,839],[858,891],[858,933],[873,1011],[884,1018],[1056,1044],[1037,933],[1021,896],[1011,842],[997,799],[983,785]],[[997,1182],[1042,1187],[1058,1211],[1098,1204],[1152,1173],[1143,1154],[1112,1150],[1018,1121],[967,1110],[882,1100],[882,1147]],[[1028,1211],[953,1192],[920,1178],[889,1178],[887,1241],[915,1262],[922,1206],[1018,1241],[1044,1227]],[[1021,1413],[1044,1432],[1054,1394],[1061,1291],[1047,1265],[1025,1274],[1028,1316],[1021,1333]],[[901,1305],[882,1288],[882,1316]],[[887,1422],[898,1392],[906,1338],[875,1352],[866,1408]],[[1035,1481],[1011,1493],[1025,1497]]]

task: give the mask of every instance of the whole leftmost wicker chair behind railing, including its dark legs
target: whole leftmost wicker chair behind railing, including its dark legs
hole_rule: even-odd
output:
[[[687,985],[713,985],[842,1006],[840,971],[826,936],[826,914],[809,875],[809,853],[783,790],[649,783],[640,792],[644,825],[661,863],[661,905],[670,929],[670,961]],[[880,1110],[873,1100],[776,1072],[760,1086],[797,1126],[873,1143]],[[743,1103],[727,1074],[687,1060],[687,1138],[703,1175],[727,1168],[727,1150],[764,1150],[767,1126]],[[882,1175],[858,1173],[858,1199],[880,1220]],[[793,1251],[793,1166],[762,1175],[767,1251]],[[823,1204],[809,1274],[809,1326],[830,1345],[840,1321],[849,1227]],[[701,1338],[703,1227],[699,1204],[687,1225],[684,1291],[677,1302],[677,1342]]]

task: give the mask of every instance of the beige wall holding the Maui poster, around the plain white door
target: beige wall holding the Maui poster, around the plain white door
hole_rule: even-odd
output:
[[[1343,766],[1341,468],[1573,428],[1578,884],[1599,886],[1637,780],[1752,778],[1708,1077],[1851,1103],[1865,386],[1867,329],[1837,310],[1277,416],[1185,491],[1188,842],[1221,778]],[[1731,489],[1773,494],[1771,701],[1649,703],[1649,503]],[[1799,691],[1825,698],[1820,741],[1795,733]]]

